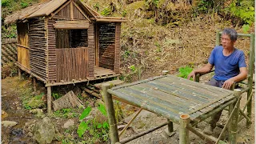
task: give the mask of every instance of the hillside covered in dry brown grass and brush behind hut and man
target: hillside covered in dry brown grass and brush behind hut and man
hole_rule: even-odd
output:
[[[2,22],[8,14],[38,0],[2,1]],[[105,16],[128,17],[122,24],[122,70],[126,81],[174,72],[183,65],[205,62],[214,47],[215,32],[233,27],[254,32],[254,1],[86,1]],[[238,12],[235,11],[239,10]],[[16,37],[16,27],[2,26],[2,38]],[[249,49],[248,39],[237,47]]]

